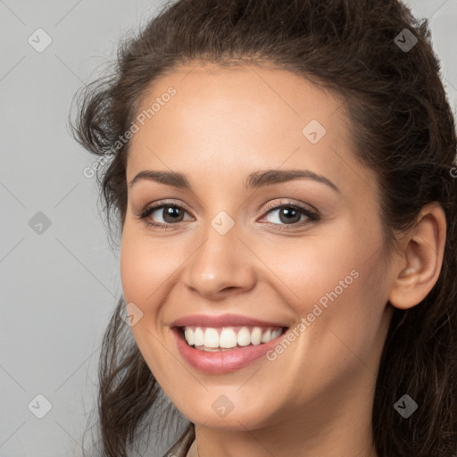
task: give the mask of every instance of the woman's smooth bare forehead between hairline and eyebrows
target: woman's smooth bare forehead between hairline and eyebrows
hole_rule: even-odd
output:
[[[342,96],[290,71],[179,67],[141,99],[144,125],[130,140],[128,179],[145,167],[219,180],[282,167],[353,187],[359,164],[344,105]]]

